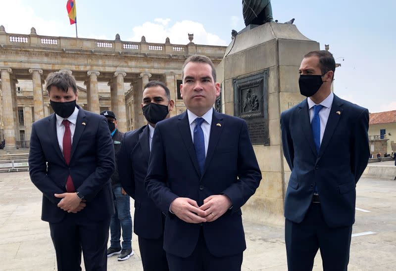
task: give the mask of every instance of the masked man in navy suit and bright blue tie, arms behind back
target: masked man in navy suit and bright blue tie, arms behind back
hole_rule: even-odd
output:
[[[331,91],[336,63],[328,51],[304,56],[300,93],[281,114],[282,145],[292,171],[285,197],[290,271],[312,270],[320,249],[323,270],[347,270],[356,183],[367,166],[368,110]]]

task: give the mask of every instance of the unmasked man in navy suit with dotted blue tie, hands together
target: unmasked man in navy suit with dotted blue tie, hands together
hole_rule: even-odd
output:
[[[183,65],[187,111],[155,126],[145,185],[166,214],[171,271],[240,271],[246,249],[241,207],[261,180],[244,120],[213,110],[220,94],[213,63]]]

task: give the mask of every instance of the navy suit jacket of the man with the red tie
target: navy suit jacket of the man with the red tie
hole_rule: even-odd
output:
[[[57,207],[60,198],[53,194],[66,192],[69,174],[76,190],[85,196],[87,206],[68,215],[79,221],[109,218],[114,213],[110,184],[114,168],[113,141],[105,117],[79,107],[69,165],[59,148],[55,114],[33,123],[29,173],[31,181],[43,192],[42,220],[58,223],[67,214]]]

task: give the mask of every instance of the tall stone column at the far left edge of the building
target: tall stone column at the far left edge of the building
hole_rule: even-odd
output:
[[[11,72],[12,70],[10,68],[0,68],[1,90],[3,94],[2,113],[4,123],[5,149],[14,149],[16,147],[14,126],[15,115],[13,114],[12,110],[12,92],[10,81]]]

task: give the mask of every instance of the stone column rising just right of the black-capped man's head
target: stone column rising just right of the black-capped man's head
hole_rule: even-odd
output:
[[[125,90],[124,90],[124,77],[127,74],[125,72],[115,72],[114,77],[116,78],[116,83],[114,84],[116,93],[117,106],[115,106],[116,111],[114,112],[118,120],[118,128],[121,132],[127,131],[127,115],[125,109]],[[111,97],[113,101],[113,97]],[[115,109],[114,108],[114,109]],[[117,112],[117,113],[116,113]]]

